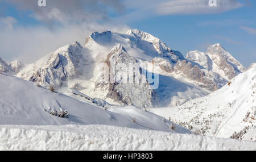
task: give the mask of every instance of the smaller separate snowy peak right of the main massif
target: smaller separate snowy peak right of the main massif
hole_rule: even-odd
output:
[[[191,51],[186,59],[194,61],[209,71],[220,74],[225,80],[244,72],[246,69],[220,44],[210,45],[207,52]]]

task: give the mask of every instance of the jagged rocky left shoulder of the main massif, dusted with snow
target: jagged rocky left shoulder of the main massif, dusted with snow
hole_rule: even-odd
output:
[[[84,48],[79,43],[66,45],[51,53],[41,67],[33,69],[35,72],[32,74],[27,75],[24,70],[18,76],[42,85],[60,87],[68,78],[72,79],[82,75],[86,64],[84,53]]]

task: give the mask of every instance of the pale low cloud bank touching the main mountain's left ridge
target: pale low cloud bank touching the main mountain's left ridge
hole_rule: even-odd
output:
[[[43,26],[22,27],[11,17],[0,19],[0,57],[7,61],[14,59],[32,63],[59,47],[79,41],[84,44],[86,36],[93,31],[111,30],[126,32],[124,24],[81,23],[68,24],[54,30]]]

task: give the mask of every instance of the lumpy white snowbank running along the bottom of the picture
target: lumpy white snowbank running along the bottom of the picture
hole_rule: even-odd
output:
[[[0,126],[0,150],[256,150],[256,143],[102,125]]]

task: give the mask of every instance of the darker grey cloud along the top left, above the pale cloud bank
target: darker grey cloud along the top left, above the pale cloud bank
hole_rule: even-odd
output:
[[[31,16],[49,25],[84,23],[108,18],[108,9],[120,12],[124,6],[119,0],[46,0],[46,7],[39,7],[38,0],[2,0],[16,9],[30,11]]]

